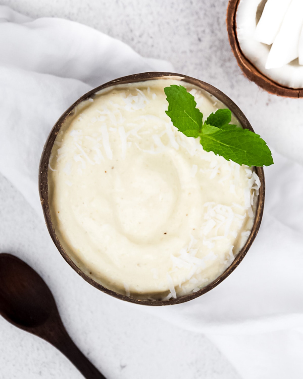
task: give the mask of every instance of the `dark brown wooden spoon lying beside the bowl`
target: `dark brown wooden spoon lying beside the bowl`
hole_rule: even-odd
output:
[[[87,379],[106,379],[67,334],[55,299],[41,276],[6,253],[0,254],[0,314],[11,324],[51,343]]]

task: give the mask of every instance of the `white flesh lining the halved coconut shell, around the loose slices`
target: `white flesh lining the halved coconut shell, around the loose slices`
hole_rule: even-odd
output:
[[[260,72],[276,83],[289,88],[303,88],[303,66],[300,66],[298,62],[295,61],[278,68],[266,69],[265,65],[269,56],[270,45],[255,39],[256,15],[258,8],[261,8],[260,3],[261,0],[240,0],[239,2],[236,13],[236,33],[243,54]],[[299,3],[303,6],[303,0],[299,0]],[[302,39],[300,39],[300,46],[302,46],[301,61],[303,61]]]

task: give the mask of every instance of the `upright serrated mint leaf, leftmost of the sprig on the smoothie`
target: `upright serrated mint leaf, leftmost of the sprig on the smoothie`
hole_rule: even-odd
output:
[[[164,88],[169,103],[167,116],[173,125],[188,137],[198,137],[198,133],[191,135],[191,131],[201,132],[203,114],[196,108],[194,96],[183,86],[171,85]]]

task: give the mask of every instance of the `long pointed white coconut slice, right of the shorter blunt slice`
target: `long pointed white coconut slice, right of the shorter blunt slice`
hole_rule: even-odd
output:
[[[284,66],[299,56],[299,38],[303,25],[303,0],[292,0],[280,30],[273,41],[265,68]]]

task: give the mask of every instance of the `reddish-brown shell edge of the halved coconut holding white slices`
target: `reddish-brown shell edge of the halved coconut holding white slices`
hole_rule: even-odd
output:
[[[226,27],[231,50],[233,51],[234,56],[236,57],[237,63],[241,68],[242,72],[249,80],[255,82],[256,85],[258,85],[259,87],[271,94],[284,97],[303,97],[303,88],[284,87],[276,83],[272,79],[268,78],[266,75],[262,74],[262,72],[260,72],[242,53],[236,32],[236,14],[240,1],[241,0],[230,0],[230,2],[228,3],[226,14]]]

